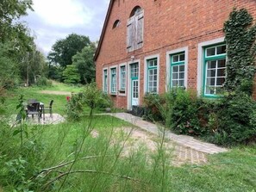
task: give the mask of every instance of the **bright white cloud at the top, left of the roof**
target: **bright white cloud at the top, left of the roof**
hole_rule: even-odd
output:
[[[94,12],[75,0],[34,0],[34,13],[49,25],[72,28],[89,25]]]

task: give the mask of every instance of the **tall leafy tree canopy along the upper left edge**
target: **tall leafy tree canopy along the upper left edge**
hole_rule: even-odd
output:
[[[0,3],[0,89],[33,82],[46,71],[44,56],[36,50],[29,28],[19,18],[32,9],[32,0],[1,0]]]

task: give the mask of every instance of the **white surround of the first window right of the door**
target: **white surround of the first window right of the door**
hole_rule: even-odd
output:
[[[159,94],[159,67],[160,67],[160,54],[149,55],[144,58],[144,94],[148,92],[148,60],[157,59],[157,92]],[[153,93],[153,92],[152,92]]]

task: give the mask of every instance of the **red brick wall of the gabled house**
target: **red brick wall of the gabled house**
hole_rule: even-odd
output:
[[[132,9],[144,9],[144,45],[126,51],[127,20]],[[144,58],[160,55],[159,92],[165,91],[166,52],[188,46],[188,88],[197,89],[198,43],[223,37],[223,23],[234,7],[246,8],[256,19],[255,0],[116,0],[109,15],[100,53],[97,57],[97,85],[102,88],[103,67],[140,59],[140,103],[144,88]],[[119,19],[121,25],[112,28]],[[118,78],[117,78],[118,79]],[[256,96],[256,91],[255,91]],[[113,96],[116,107],[126,108],[126,96]]]

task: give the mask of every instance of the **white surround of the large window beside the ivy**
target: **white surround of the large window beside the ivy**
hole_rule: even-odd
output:
[[[215,40],[207,40],[198,44],[198,55],[197,55],[197,96],[203,96],[203,65],[204,65],[204,51],[206,46],[214,46],[216,44],[225,43],[225,38],[217,38]],[[226,58],[226,62],[227,62]]]

